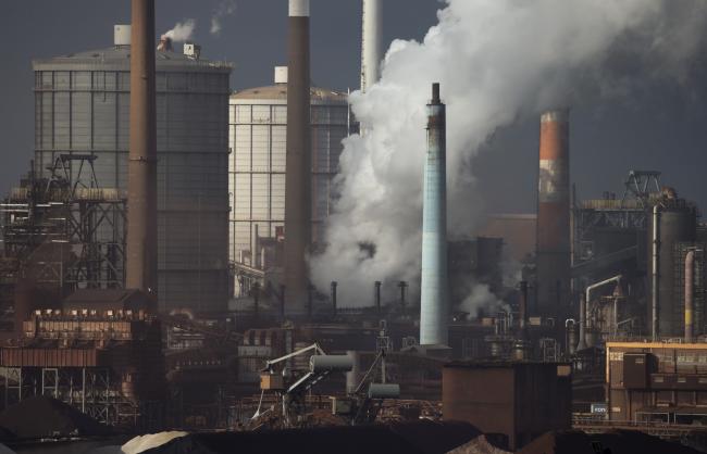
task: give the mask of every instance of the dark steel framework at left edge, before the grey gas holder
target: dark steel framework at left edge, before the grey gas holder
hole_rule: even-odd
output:
[[[3,263],[13,276],[30,273],[63,293],[123,287],[125,196],[99,186],[95,161],[60,154],[49,178],[36,178],[33,165],[0,204]]]

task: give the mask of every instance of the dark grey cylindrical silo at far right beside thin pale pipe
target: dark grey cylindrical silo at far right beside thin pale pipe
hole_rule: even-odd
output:
[[[680,294],[682,288],[675,285],[675,266],[681,261],[675,260],[675,245],[680,242],[695,241],[697,228],[697,213],[684,200],[669,201],[667,206],[658,210],[658,332],[660,337],[682,336],[684,333],[684,304]],[[652,214],[650,214],[652,215]],[[648,222],[648,250],[652,249],[654,229],[653,222]],[[652,269],[648,256],[648,270]],[[649,276],[648,279],[653,279]],[[652,286],[648,287],[648,301],[653,299]],[[648,304],[650,311],[650,304]],[[650,319],[650,314],[648,314]]]

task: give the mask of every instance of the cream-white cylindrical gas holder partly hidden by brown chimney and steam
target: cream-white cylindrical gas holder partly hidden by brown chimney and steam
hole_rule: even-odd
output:
[[[315,243],[333,209],[333,179],[351,118],[346,93],[312,87],[310,97],[312,241]],[[238,276],[235,294],[241,295],[250,287],[251,276],[282,266],[287,68],[275,68],[273,86],[237,91],[230,104],[228,260],[235,264]]]

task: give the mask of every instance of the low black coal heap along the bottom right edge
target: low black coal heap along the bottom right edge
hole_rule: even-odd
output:
[[[692,447],[633,430],[607,433],[548,432],[519,454],[698,454]]]

